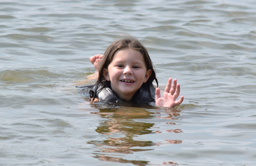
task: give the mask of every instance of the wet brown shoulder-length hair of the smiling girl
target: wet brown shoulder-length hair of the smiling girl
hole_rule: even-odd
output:
[[[148,78],[147,82],[145,82],[143,84],[145,84],[145,86],[148,87],[148,90],[150,90],[150,87],[153,86],[152,82],[155,80],[156,84],[157,84],[157,87],[158,87],[158,81],[156,79],[156,72],[155,72],[155,69],[154,69],[154,65],[153,65],[153,63],[152,63],[152,61],[151,61],[151,59],[148,55],[147,49],[135,37],[125,36],[122,39],[114,41],[106,49],[106,51],[104,53],[104,56],[103,56],[103,58],[100,62],[98,80],[93,86],[93,87],[95,87],[95,92],[92,94],[92,88],[93,87],[91,88],[91,90],[89,92],[91,97],[93,95],[92,100],[91,100],[91,97],[90,97],[91,101],[93,101],[95,99],[95,97],[97,96],[97,91],[100,91],[102,88],[104,88],[105,85],[107,85],[110,82],[110,81],[107,81],[105,79],[105,77],[103,76],[103,69],[108,68],[108,65],[112,62],[116,51],[121,50],[121,49],[134,49],[134,50],[139,51],[142,54],[144,62],[146,64],[147,70],[150,69],[152,71],[152,73],[151,73],[150,77]],[[98,90],[99,84],[102,84],[103,87]],[[154,88],[155,88],[155,86],[154,86]]]

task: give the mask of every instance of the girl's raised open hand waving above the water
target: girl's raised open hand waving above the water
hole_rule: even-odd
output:
[[[171,88],[172,85],[172,88]],[[180,84],[177,84],[177,79],[168,79],[167,85],[164,89],[163,97],[161,97],[161,92],[159,88],[156,88],[156,106],[162,107],[176,107],[183,102],[184,96],[180,97],[180,100],[175,101],[180,95]]]

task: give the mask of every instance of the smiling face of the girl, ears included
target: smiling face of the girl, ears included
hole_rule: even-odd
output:
[[[147,70],[143,55],[134,49],[117,50],[103,75],[111,82],[111,88],[116,94],[126,100],[131,100],[133,94],[147,82],[151,75]]]

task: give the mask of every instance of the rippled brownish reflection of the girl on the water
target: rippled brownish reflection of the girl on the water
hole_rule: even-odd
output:
[[[97,107],[95,105],[95,107]],[[101,106],[102,107],[102,106]],[[109,107],[109,106],[108,106]],[[166,112],[166,117],[153,116],[156,112],[150,112],[145,108],[139,107],[126,107],[116,106],[112,109],[98,108],[99,112],[92,112],[100,115],[103,118],[103,122],[99,124],[95,130],[99,134],[103,134],[106,137],[105,140],[92,140],[89,144],[95,145],[98,148],[93,153],[95,158],[102,161],[120,162],[120,163],[132,163],[134,165],[147,165],[147,161],[144,160],[127,160],[121,154],[133,154],[135,152],[154,150],[154,146],[160,146],[162,144],[180,144],[182,140],[163,140],[163,142],[152,142],[137,140],[139,135],[162,133],[160,128],[158,130],[150,130],[154,127],[154,123],[150,123],[152,118],[164,118],[175,119],[173,117],[179,116],[179,112]],[[149,122],[140,122],[140,119],[148,119]],[[176,125],[175,123],[166,123]],[[181,133],[180,129],[166,130],[166,132]],[[165,162],[164,165],[171,162]]]

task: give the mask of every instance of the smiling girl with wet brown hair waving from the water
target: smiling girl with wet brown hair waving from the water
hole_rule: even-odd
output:
[[[147,49],[134,37],[113,42],[103,55],[90,58],[96,68],[97,82],[89,91],[93,102],[154,102],[172,107],[183,101],[180,84],[170,78],[161,97],[156,72]],[[157,88],[152,84],[156,81]],[[172,84],[172,88],[171,88]]]

